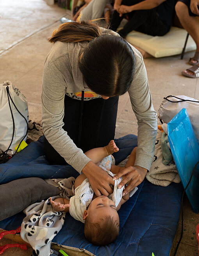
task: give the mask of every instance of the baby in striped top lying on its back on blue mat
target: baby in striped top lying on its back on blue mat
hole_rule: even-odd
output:
[[[137,147],[132,150],[125,167],[134,164],[136,149]],[[110,154],[118,150],[114,140],[111,140],[106,147],[91,149],[85,154],[113,177],[121,170],[121,167],[112,165],[113,157]],[[84,174],[80,174],[75,180],[75,195],[71,197],[70,201],[62,197],[52,201],[50,197],[50,202],[54,211],[69,212],[76,220],[85,222],[84,234],[89,242],[99,246],[106,245],[117,238],[119,234],[117,211],[129,199],[129,193],[123,195],[124,186],[121,189],[118,188],[121,179],[115,180],[114,191],[111,195],[97,197],[89,180]],[[134,192],[136,190],[137,188],[134,189]]]

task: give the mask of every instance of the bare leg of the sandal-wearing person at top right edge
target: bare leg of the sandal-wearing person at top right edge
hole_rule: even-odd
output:
[[[199,20],[195,16],[190,16],[190,12],[188,11],[188,6],[178,1],[175,6],[176,14],[179,18],[179,21],[184,29],[187,30],[188,34],[192,36],[196,43],[196,52],[199,52]],[[191,62],[197,63],[196,60],[192,59]],[[185,73],[192,75],[193,72],[189,70],[185,70]]]

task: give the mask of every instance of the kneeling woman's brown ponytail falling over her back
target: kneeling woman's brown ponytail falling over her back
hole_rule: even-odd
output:
[[[52,37],[48,40],[51,43],[56,41],[69,43],[69,42],[82,42],[91,41],[92,39],[101,36],[100,27],[94,23],[81,21],[67,22],[59,26],[58,29],[53,31]]]

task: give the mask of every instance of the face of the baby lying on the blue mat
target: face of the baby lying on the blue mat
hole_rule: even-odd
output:
[[[119,221],[119,215],[114,202],[104,195],[96,197],[91,202],[88,208],[88,213],[93,222],[97,222],[99,218],[103,218],[104,216],[111,216]]]

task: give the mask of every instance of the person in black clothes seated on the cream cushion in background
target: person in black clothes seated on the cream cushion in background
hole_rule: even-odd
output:
[[[132,30],[151,36],[163,36],[171,28],[175,0],[115,0],[110,29],[116,31],[123,18],[128,22],[118,34],[125,36]]]

